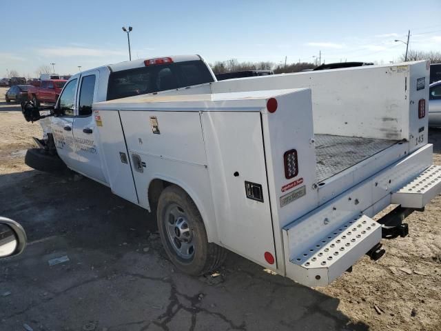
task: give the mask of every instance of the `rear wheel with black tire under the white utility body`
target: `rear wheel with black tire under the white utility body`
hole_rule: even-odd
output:
[[[201,213],[182,188],[170,185],[163,190],[157,220],[165,252],[182,272],[198,276],[225,261],[227,250],[208,242]]]

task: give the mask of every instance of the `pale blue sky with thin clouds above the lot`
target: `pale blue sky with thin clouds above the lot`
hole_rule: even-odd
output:
[[[441,0],[1,1],[0,77],[72,74],[128,59],[201,54],[207,61],[397,61],[406,40],[441,51]]]

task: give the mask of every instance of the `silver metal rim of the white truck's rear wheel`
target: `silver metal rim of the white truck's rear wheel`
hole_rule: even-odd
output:
[[[167,240],[182,259],[192,259],[194,255],[193,230],[189,228],[188,217],[176,203],[165,210],[165,230]]]

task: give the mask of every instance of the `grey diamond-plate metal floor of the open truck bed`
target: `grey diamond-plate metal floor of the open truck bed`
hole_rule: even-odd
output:
[[[398,141],[315,134],[318,182],[394,145]]]

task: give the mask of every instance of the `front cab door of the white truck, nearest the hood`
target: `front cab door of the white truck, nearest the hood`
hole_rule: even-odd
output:
[[[72,81],[66,84],[56,105],[61,114],[50,118],[57,152],[69,168],[75,168],[76,161],[78,160],[72,131],[76,108],[77,83],[78,79],[72,79]]]

